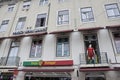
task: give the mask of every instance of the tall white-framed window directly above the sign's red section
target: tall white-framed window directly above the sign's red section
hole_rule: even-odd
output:
[[[57,57],[68,57],[69,52],[69,39],[68,38],[58,38],[57,39]]]

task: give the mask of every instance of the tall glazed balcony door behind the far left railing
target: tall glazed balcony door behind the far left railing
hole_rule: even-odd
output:
[[[12,41],[6,65],[12,65],[12,66],[15,65],[16,66],[17,59],[18,59],[19,47],[20,47],[20,41]]]

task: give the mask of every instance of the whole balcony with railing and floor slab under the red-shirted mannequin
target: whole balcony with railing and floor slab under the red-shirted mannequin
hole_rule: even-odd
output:
[[[95,55],[93,59],[88,59],[85,53],[80,54],[80,66],[81,67],[103,67],[109,66],[109,61],[106,52],[100,52],[99,55]]]

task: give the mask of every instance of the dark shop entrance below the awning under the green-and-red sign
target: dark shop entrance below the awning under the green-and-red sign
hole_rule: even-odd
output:
[[[71,80],[69,72],[26,72],[24,80]]]

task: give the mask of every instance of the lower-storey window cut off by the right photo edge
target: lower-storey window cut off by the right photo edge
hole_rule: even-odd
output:
[[[114,33],[114,41],[117,53],[120,53],[120,33]]]

